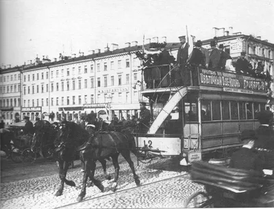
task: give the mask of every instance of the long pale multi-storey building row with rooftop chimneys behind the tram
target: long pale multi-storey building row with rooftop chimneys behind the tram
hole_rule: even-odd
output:
[[[218,36],[217,32],[220,31]],[[225,51],[232,59],[238,59],[244,51],[254,68],[258,61],[265,60],[273,76],[274,44],[240,33],[229,34],[224,29],[214,28],[214,36],[218,44],[225,46]],[[211,40],[203,40],[203,46],[210,48]],[[158,38],[153,39],[153,42],[157,41]],[[179,46],[179,42],[166,44],[174,57]],[[31,120],[36,115],[45,117],[45,120],[49,120],[49,117],[51,120],[60,120],[61,115],[67,120],[79,120],[83,113],[90,111],[105,114],[105,119],[109,117],[109,120],[114,114],[120,119],[138,115],[139,101],[145,100],[139,91],[145,87],[145,83],[136,85],[141,83],[137,81],[142,81],[136,51],[142,51],[142,46],[137,42],[126,43],[124,48],[112,44],[102,53],[96,49],[90,55],[79,53],[78,57],[61,56],[54,61],[47,57],[43,57],[42,61],[36,58],[33,64],[1,69],[2,119],[6,124],[24,115],[29,115]],[[274,88],[272,90],[274,92]]]

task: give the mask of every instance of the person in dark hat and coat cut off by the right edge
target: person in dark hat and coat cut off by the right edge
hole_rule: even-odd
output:
[[[264,168],[274,169],[274,130],[272,128],[273,113],[269,110],[262,110],[258,114],[260,122],[256,130],[258,140],[254,147],[260,150],[265,159]]]

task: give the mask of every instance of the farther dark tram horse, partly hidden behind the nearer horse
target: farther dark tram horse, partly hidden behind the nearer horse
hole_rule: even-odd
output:
[[[79,126],[77,124],[75,125]],[[33,152],[39,153],[41,150],[45,149],[45,145],[47,145],[46,148],[50,148],[47,151],[53,155],[53,158],[55,158],[56,161],[58,161],[61,186],[55,193],[56,196],[62,195],[64,183],[69,186],[75,186],[75,182],[73,182],[73,180],[66,180],[66,172],[68,171],[71,162],[75,160],[75,156],[78,154],[79,156],[82,156],[82,154],[79,153],[79,150],[76,149],[79,146],[78,143],[85,143],[90,137],[89,135],[86,135],[86,132],[82,135],[83,132],[81,130],[80,133],[77,133],[75,136],[75,139],[79,137],[82,139],[81,141],[78,143],[64,143],[60,141],[60,133],[62,133],[60,129],[62,129],[62,126],[53,126],[45,120],[36,122],[34,125],[34,137],[32,139]],[[82,160],[81,157],[80,159]],[[100,163],[103,167],[105,179],[110,180],[110,175],[108,175],[106,171],[106,161],[102,159],[100,160]]]

